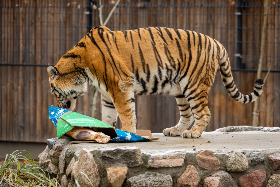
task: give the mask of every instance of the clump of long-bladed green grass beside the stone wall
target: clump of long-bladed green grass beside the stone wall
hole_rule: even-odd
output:
[[[21,164],[21,162],[23,162]],[[6,154],[0,166],[0,186],[59,186],[57,176],[52,176],[35,162],[24,150]]]

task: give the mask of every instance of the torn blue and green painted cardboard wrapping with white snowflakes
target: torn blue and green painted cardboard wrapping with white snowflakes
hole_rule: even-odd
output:
[[[107,123],[100,120],[71,112],[66,109],[49,106],[49,119],[57,129],[58,138],[66,138],[65,133],[75,127],[90,128],[95,132],[102,132],[111,137],[110,142],[138,142],[148,140],[158,140],[157,137],[152,137],[150,130],[137,130],[136,134],[131,132],[116,129]],[[138,135],[137,135],[138,134]],[[86,143],[95,141],[72,141],[72,143]]]

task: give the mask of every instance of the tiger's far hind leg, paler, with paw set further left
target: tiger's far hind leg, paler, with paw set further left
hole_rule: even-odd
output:
[[[183,95],[183,93],[180,93],[178,95],[175,95],[177,104],[180,109],[180,120],[178,124],[174,127],[166,128],[163,130],[163,134],[165,136],[181,136],[182,132],[189,128],[189,126],[193,123],[194,117],[192,114],[191,107],[189,105],[189,102]]]

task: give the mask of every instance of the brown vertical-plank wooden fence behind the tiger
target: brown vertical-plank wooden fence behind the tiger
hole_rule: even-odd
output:
[[[103,20],[116,0],[102,1]],[[111,30],[147,26],[195,30],[220,41],[228,51],[238,89],[253,90],[259,60],[263,1],[242,4],[242,28],[237,28],[238,0],[162,1],[122,0],[107,26]],[[92,1],[92,26],[99,25],[99,1]],[[263,69],[273,70],[260,98],[259,126],[280,126],[280,11],[279,0],[269,2]],[[0,141],[45,142],[55,137],[48,118],[48,106],[56,101],[49,92],[46,67],[54,65],[87,32],[86,0],[2,0],[0,1]],[[242,63],[237,71],[237,29],[242,29]],[[251,125],[253,104],[231,99],[220,73],[210,90],[212,114],[206,131]],[[265,72],[263,72],[263,76]],[[92,88],[79,97],[77,112],[91,115]],[[97,101],[100,119],[100,99]],[[137,128],[161,132],[179,120],[174,97],[137,96]],[[119,124],[118,124],[119,126]]]

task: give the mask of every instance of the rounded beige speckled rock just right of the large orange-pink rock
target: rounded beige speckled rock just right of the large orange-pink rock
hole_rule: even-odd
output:
[[[248,169],[248,159],[241,152],[235,151],[230,154],[225,165],[230,172],[242,172]]]

